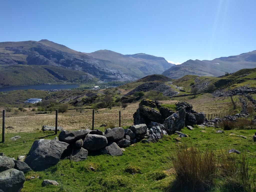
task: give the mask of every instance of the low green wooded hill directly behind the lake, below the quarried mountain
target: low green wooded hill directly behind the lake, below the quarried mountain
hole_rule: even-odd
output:
[[[0,65],[0,87],[46,83],[93,83],[99,79],[89,73],[55,66]]]

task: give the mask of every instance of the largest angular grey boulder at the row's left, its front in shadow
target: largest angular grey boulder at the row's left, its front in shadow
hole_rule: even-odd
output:
[[[51,165],[57,164],[68,146],[68,143],[57,140],[36,140],[28,152],[25,163],[33,170],[44,170]]]

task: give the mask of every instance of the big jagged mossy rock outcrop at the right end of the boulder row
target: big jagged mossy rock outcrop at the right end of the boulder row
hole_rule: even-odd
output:
[[[176,103],[177,110],[171,110],[158,101],[143,99],[137,111],[133,114],[134,124],[146,124],[152,127],[152,122],[161,124],[162,130],[168,134],[180,131],[184,126],[207,124],[203,112],[197,113],[193,106],[187,102]]]

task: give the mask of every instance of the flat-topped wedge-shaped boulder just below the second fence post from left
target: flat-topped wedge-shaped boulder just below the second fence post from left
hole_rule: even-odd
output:
[[[87,130],[79,130],[79,131],[66,131],[63,130],[59,134],[59,141],[63,141],[66,143],[73,143],[79,139],[83,139],[89,132]]]

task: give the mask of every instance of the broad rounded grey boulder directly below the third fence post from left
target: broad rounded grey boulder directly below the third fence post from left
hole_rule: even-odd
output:
[[[108,144],[108,140],[103,135],[88,134],[83,140],[83,148],[88,151],[97,151]]]

